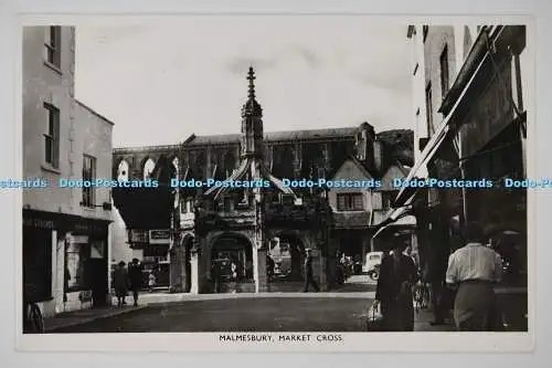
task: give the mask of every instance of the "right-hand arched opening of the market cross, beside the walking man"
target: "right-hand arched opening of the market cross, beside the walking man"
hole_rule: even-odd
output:
[[[309,242],[305,236],[294,231],[279,231],[272,240],[277,239],[277,244],[270,242],[268,254],[278,265],[283,275],[289,280],[302,280],[302,260]],[[274,244],[274,246],[273,246]],[[276,250],[279,248],[279,250]]]

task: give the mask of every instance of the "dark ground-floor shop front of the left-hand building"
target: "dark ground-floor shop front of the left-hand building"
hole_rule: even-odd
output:
[[[45,315],[108,303],[108,220],[23,210],[24,297]]]

